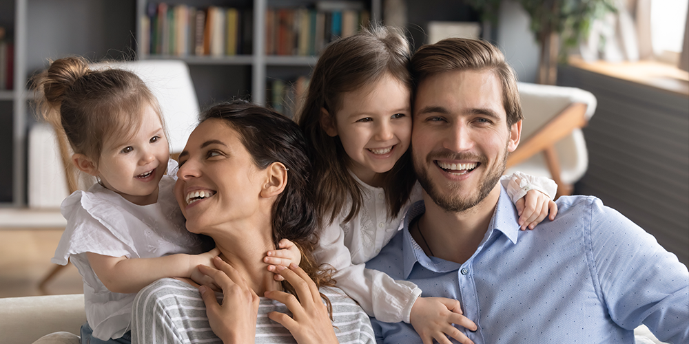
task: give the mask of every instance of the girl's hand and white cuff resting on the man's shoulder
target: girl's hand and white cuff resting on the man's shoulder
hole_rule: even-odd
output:
[[[551,221],[557,215],[557,204],[553,202],[557,193],[555,181],[545,177],[535,177],[522,172],[504,175],[500,178],[520,215],[519,224],[522,230],[533,229],[542,222],[548,212]]]

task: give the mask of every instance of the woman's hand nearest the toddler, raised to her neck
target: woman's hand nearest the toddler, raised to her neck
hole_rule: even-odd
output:
[[[220,269],[198,266],[223,290],[223,305],[218,304],[216,295],[208,286],[200,286],[203,303],[211,329],[223,343],[254,343],[256,318],[258,317],[258,295],[247,285],[237,270],[214,257],[213,263]]]

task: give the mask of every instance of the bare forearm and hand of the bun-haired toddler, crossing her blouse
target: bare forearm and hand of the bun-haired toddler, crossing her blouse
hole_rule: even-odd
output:
[[[201,253],[183,253],[156,258],[127,258],[86,252],[89,264],[103,285],[111,292],[134,293],[163,277],[191,277],[196,266],[212,266],[220,254],[218,248]]]

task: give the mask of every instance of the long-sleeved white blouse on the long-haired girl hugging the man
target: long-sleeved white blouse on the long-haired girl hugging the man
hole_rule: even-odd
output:
[[[411,307],[421,290],[414,283],[395,281],[384,272],[365,268],[364,264],[376,257],[382,247],[402,229],[402,219],[409,206],[422,199],[421,186],[417,182],[409,202],[402,206],[400,213],[389,218],[385,191],[362,182],[353,173],[351,175],[362,190],[363,204],[359,213],[350,222],[344,223],[351,207],[349,200],[335,221],[322,228],[320,245],[313,253],[320,264],[329,264],[337,270],[333,278],[338,288],[358,301],[369,316],[388,323],[409,323]],[[503,176],[500,182],[513,202],[532,189],[545,193],[551,199],[557,191],[557,184],[553,180],[520,172]]]

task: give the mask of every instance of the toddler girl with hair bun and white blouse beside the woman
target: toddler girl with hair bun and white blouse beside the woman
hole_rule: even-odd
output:
[[[163,277],[202,283],[196,266],[213,266],[219,250],[185,228],[163,114],[138,76],[68,57],[35,82],[39,110],[68,139],[72,163],[98,179],[62,203],[68,225],[51,261],[69,259],[83,277],[82,343],[130,343],[136,292]]]

